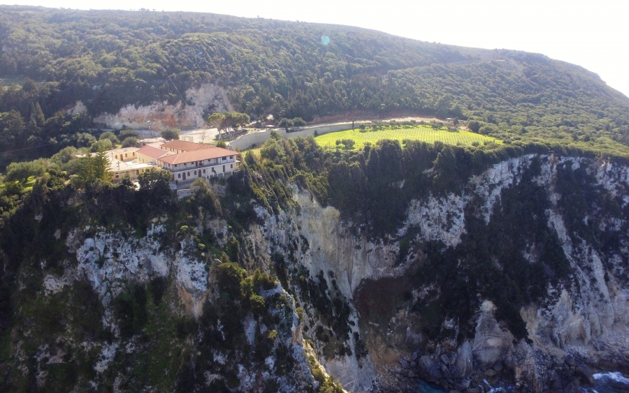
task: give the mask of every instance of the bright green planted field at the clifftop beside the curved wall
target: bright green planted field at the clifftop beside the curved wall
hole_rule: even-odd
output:
[[[486,137],[469,131],[456,131],[450,132],[447,129],[442,128],[435,130],[430,127],[416,126],[412,128],[384,128],[384,130],[378,131],[362,131],[358,128],[347,131],[337,131],[335,133],[327,133],[319,135],[315,138],[317,143],[322,147],[336,148],[336,140],[340,139],[353,139],[356,142],[354,149],[362,149],[365,146],[365,142],[375,144],[379,140],[391,139],[399,140],[400,143],[405,139],[421,140],[423,142],[436,142],[441,141],[447,144],[454,144],[459,146],[472,146],[474,142],[478,144],[496,142],[498,144],[503,143],[496,138]]]

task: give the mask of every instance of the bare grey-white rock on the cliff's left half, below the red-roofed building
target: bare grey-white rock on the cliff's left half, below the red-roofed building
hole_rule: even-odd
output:
[[[225,221],[212,220],[208,224],[210,227],[208,230],[212,230],[215,234],[219,232],[226,234],[228,231]],[[120,295],[130,282],[147,283],[155,276],[174,279],[175,286],[178,288],[180,305],[170,304],[169,306],[195,318],[202,315],[205,299],[208,297],[213,299],[218,294],[216,290],[211,291],[212,286],[216,285],[212,269],[209,271],[205,269],[204,261],[198,260],[191,256],[193,253],[187,252],[187,249],[194,246],[191,244],[191,239],[185,237],[181,240],[180,250],[173,251],[168,247],[163,247],[157,237],[164,230],[164,225],[156,222],[145,236],[138,238],[133,232],[123,234],[122,232],[108,232],[103,228],[77,228],[66,238],[66,246],[68,251],[75,255],[76,263],[66,261],[62,276],[47,274],[44,278],[43,286],[47,295],[60,292],[65,286],[70,286],[73,281],[79,280],[89,283],[99,295],[104,308],[103,324],[112,330],[115,338],[110,343],[96,341],[83,343],[98,350],[99,355],[94,364],[96,373],[105,373],[117,355],[133,356],[136,350],[133,340],[124,345],[124,341],[120,339],[120,329],[117,327],[117,320],[112,310],[113,299]],[[287,299],[289,307],[288,311],[284,308],[272,311],[282,319],[281,328],[277,329],[275,340],[291,350],[295,362],[290,376],[283,373],[274,375],[272,371],[275,357],[270,355],[265,359],[269,371],[264,371],[263,378],[278,383],[282,392],[302,392],[303,387],[313,385],[315,380],[303,348],[302,325],[297,313],[297,305],[294,297],[284,290],[280,283],[277,283],[275,288],[261,293],[261,296],[270,303],[273,302],[275,295],[281,295]],[[245,336],[252,345],[254,345],[256,329],[266,329],[266,326],[258,326],[259,323],[253,318],[243,321]],[[40,351],[41,357],[51,357],[47,348],[41,348]],[[233,361],[229,355],[220,350],[215,350],[213,355],[223,364]],[[256,376],[257,371],[251,371],[242,364],[237,365],[237,369],[240,390],[259,389],[260,378]],[[208,374],[205,378],[209,385],[215,378],[222,379],[224,376]]]

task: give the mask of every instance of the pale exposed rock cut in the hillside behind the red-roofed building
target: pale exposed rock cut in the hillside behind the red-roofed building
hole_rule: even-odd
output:
[[[133,104],[120,108],[117,113],[103,113],[94,117],[94,123],[105,124],[106,128],[144,128],[161,130],[166,127],[197,128],[204,124],[203,111],[212,106],[215,112],[231,111],[232,107],[226,91],[215,84],[201,84],[184,92],[189,105],[179,101],[175,105],[168,102],[154,102],[151,105]],[[85,105],[78,102],[68,113],[80,112]],[[150,121],[150,123],[149,123]]]

